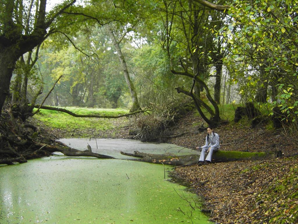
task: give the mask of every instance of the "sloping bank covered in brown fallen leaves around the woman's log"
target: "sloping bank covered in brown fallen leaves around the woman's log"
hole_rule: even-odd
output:
[[[189,113],[181,119],[169,140],[185,146],[204,145],[206,132],[198,132],[199,118]],[[221,150],[282,151],[283,156],[262,161],[219,162],[177,167],[181,177],[204,198],[204,211],[223,224],[298,223],[297,142],[285,130],[251,128],[230,123],[214,129]],[[296,156],[295,156],[296,155]]]

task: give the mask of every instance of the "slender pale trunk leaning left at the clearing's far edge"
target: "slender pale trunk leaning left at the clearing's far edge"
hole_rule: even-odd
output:
[[[136,89],[134,88],[134,84],[131,81],[131,78],[129,76],[127,65],[126,65],[122,50],[120,48],[119,42],[117,41],[117,39],[115,37],[115,34],[114,34],[113,30],[111,30],[111,28],[109,28],[109,32],[110,32],[110,36],[111,36],[111,39],[113,41],[114,47],[117,50],[119,61],[121,63],[122,69],[123,69],[125,81],[126,81],[126,84],[128,85],[128,88],[129,88],[129,91],[130,91],[130,94],[131,94],[131,99],[132,99],[133,105],[132,105],[132,108],[131,108],[130,112],[140,110],[141,107],[139,105],[139,100],[138,100],[138,96],[137,96],[137,93],[136,93]]]

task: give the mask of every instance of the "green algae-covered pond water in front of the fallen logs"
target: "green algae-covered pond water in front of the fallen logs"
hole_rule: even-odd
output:
[[[2,166],[0,223],[211,223],[164,169],[172,167],[62,155]]]

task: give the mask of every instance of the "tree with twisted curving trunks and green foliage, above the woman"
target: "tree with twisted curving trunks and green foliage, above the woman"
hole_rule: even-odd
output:
[[[170,59],[171,71],[174,74],[188,76],[194,81],[191,91],[184,88],[177,90],[191,96],[204,120],[208,124],[214,125],[221,120],[217,103],[220,102],[223,57],[221,52],[223,41],[215,34],[217,33],[216,30],[222,26],[221,20],[225,15],[217,15],[219,12],[211,12],[210,8],[205,8],[194,1],[163,2],[162,46],[164,46]],[[218,18],[220,18],[219,22]],[[175,69],[173,65],[177,64],[180,67]],[[213,99],[206,84],[212,66],[216,68],[215,97],[218,102]],[[200,98],[200,92],[203,89],[214,111]],[[210,119],[203,113],[201,107],[210,113]]]

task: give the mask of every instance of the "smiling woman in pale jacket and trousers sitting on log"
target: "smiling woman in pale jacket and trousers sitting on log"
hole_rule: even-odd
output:
[[[212,159],[213,152],[217,152],[219,149],[219,135],[214,133],[213,128],[210,126],[207,128],[206,143],[204,146],[197,147],[201,149],[201,156],[199,159],[200,164],[209,164]],[[205,152],[208,152],[208,155],[205,160]]]

